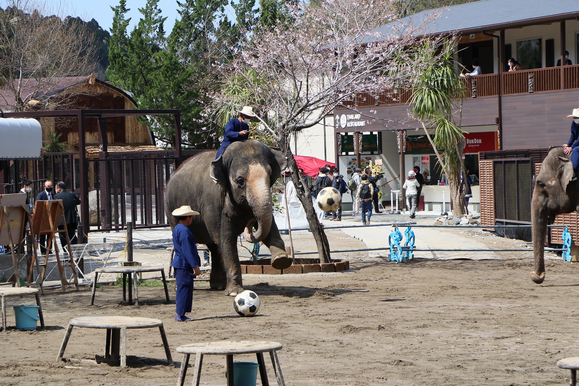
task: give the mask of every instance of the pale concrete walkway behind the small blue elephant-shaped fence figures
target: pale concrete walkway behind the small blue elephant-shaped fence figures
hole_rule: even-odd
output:
[[[335,225],[360,225],[360,222],[349,221],[347,218],[339,223],[333,221],[324,221],[327,226]],[[373,217],[372,217],[373,219]],[[373,222],[377,223],[377,222]],[[398,228],[402,233],[402,244],[406,241],[404,238],[404,231],[406,227]],[[365,227],[360,225],[356,228],[345,228],[343,232],[349,236],[356,237],[359,240],[364,241],[364,244],[368,248],[379,248],[387,247],[390,232],[393,231],[393,227]],[[416,236],[416,248],[488,248],[482,242],[472,240],[472,238],[458,236],[454,233],[448,231],[437,230],[434,228],[413,228]],[[389,251],[369,251],[368,256],[370,258],[382,257],[388,258]],[[451,260],[451,259],[471,259],[471,260],[489,260],[497,259],[499,256],[494,252],[415,252],[416,258],[421,259],[439,259],[439,260]]]

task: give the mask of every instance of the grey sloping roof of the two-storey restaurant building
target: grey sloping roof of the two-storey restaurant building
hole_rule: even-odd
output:
[[[424,34],[474,33],[492,31],[509,24],[547,23],[549,20],[543,19],[573,18],[579,16],[579,0],[481,0],[419,12],[386,24],[378,31],[389,33],[394,27],[417,26],[435,12],[440,14],[426,25]]]

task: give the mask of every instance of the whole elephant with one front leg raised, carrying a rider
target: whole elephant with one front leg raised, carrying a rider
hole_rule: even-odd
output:
[[[199,212],[189,229],[211,252],[210,286],[236,296],[243,291],[237,254],[241,233],[270,249],[274,268],[292,264],[273,219],[271,192],[286,160],[279,149],[255,139],[233,142],[217,159],[216,153],[203,152],[177,168],[165,188],[165,211],[171,229],[177,225],[171,215],[175,208],[189,205]]]

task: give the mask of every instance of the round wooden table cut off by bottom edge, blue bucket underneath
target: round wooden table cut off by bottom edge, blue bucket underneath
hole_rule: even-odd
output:
[[[233,386],[233,355],[256,354],[257,363],[259,364],[261,384],[263,386],[269,386],[265,370],[265,361],[263,360],[264,352],[269,352],[269,355],[272,358],[273,371],[276,373],[278,386],[285,386],[284,377],[281,374],[280,361],[277,359],[276,351],[281,347],[282,345],[277,342],[254,342],[247,340],[193,343],[179,346],[177,347],[177,352],[183,354],[183,361],[181,362],[181,370],[179,371],[177,386],[183,386],[185,383],[185,374],[187,372],[189,356],[191,354],[197,354],[195,358],[195,370],[193,372],[193,385],[199,386],[203,355],[227,355],[227,386]]]

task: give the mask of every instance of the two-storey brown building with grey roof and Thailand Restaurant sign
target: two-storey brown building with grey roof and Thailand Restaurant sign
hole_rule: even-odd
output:
[[[483,70],[482,75],[464,80],[469,90],[461,111],[461,128],[467,133],[464,159],[475,180],[469,208],[480,210],[489,225],[530,223],[536,165],[546,155],[545,149],[568,141],[571,122],[567,115],[579,107],[579,3],[485,0],[439,11],[438,19],[427,25],[428,33],[457,31],[456,61],[470,68],[472,60],[477,60]],[[431,12],[406,21],[420,20]],[[565,51],[572,65],[562,56]],[[522,64],[523,71],[507,72],[511,57]],[[558,60],[562,66],[557,66]],[[448,211],[448,186],[438,185],[444,178],[430,144],[419,138],[424,133],[422,126],[408,119],[409,97],[408,91],[394,98],[386,93],[361,93],[350,103],[351,109],[336,108],[336,163],[340,168],[356,163],[356,147],[343,144],[349,143],[350,137],[367,137],[366,142],[377,143],[372,151],[362,147],[361,159],[381,162],[382,181],[393,180],[382,186],[386,200],[390,190],[400,189],[398,184],[418,165],[430,177],[430,185],[423,189],[424,208],[442,209],[446,193]],[[368,116],[377,119],[366,119]],[[406,124],[385,126],[380,118]],[[405,149],[401,153],[397,142],[402,137]],[[479,153],[484,162],[479,163]],[[515,157],[518,160],[505,161]],[[492,186],[485,189],[483,184]]]

